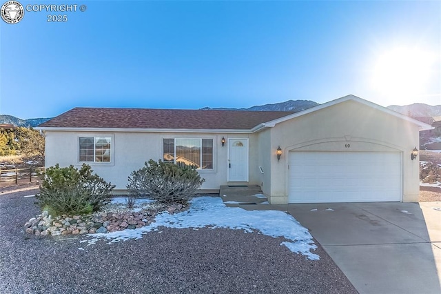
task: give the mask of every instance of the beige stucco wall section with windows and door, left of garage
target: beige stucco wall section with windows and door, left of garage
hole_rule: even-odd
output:
[[[224,147],[220,140],[225,137],[248,139],[249,146],[256,146],[257,134],[189,134],[189,133],[125,133],[125,132],[63,132],[49,130],[46,132],[46,157],[45,166],[69,166],[79,167],[82,162],[78,161],[79,137],[111,136],[112,137],[112,162],[88,163],[94,173],[103,177],[107,182],[116,185],[116,192],[124,193],[127,177],[133,170],[141,168],[149,159],[162,159],[163,138],[207,138],[214,141],[214,169],[200,170],[201,177],[205,182],[201,189],[218,190],[220,185],[227,182],[227,142]],[[217,155],[217,156],[216,156]],[[258,170],[258,153],[249,152],[249,182],[234,184],[260,184],[260,172]],[[232,183],[230,183],[232,184]]]

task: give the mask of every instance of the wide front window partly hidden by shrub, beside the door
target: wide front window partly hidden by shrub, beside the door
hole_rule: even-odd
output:
[[[163,139],[163,161],[186,168],[213,169],[213,139]]]

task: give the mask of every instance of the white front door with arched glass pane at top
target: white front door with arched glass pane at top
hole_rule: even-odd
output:
[[[228,182],[248,182],[248,139],[228,139]]]

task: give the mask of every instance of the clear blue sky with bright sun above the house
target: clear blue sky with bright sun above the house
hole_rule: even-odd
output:
[[[441,1],[20,2],[87,10],[0,20],[1,114],[349,94],[382,106],[441,104]]]

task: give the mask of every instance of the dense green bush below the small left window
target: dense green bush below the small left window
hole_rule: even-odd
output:
[[[83,164],[60,168],[59,164],[45,170],[36,195],[37,204],[52,215],[84,215],[99,210],[110,201],[115,187],[99,175],[92,175],[92,168]]]

